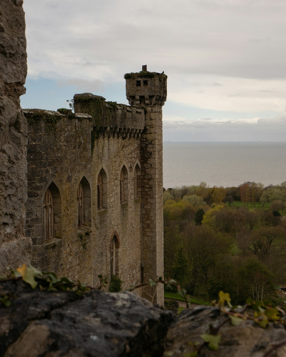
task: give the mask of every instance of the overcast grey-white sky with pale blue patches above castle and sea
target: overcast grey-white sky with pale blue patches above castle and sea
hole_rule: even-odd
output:
[[[24,0],[23,108],[168,75],[165,141],[286,141],[285,0]]]

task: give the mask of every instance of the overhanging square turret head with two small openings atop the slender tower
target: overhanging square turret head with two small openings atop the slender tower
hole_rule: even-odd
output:
[[[163,106],[167,99],[167,76],[158,72],[142,71],[126,73],[126,97],[130,105]]]

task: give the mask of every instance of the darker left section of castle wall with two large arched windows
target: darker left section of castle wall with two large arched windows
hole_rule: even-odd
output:
[[[33,240],[31,263],[44,271],[55,271],[92,283],[90,213],[86,226],[80,230],[77,222],[80,181],[90,196],[91,117],[68,118],[59,112],[44,110],[24,110],[24,114],[29,124],[26,236]],[[48,188],[58,205],[54,207],[55,234],[49,240],[44,237],[43,208]]]

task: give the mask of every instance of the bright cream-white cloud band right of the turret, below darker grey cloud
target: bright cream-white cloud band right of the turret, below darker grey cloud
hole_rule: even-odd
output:
[[[168,78],[168,85],[172,87],[172,91],[168,91],[168,100],[187,106],[220,111],[281,112],[285,108],[286,79],[262,80],[208,75],[196,75],[196,77],[203,81],[197,81],[196,85],[193,85],[193,82],[187,80],[182,82],[178,76]],[[207,78],[223,85],[209,86],[206,84]]]

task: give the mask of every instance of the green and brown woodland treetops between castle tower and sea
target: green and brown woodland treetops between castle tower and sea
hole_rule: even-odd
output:
[[[164,275],[206,300],[277,300],[286,281],[286,181],[164,189]]]

